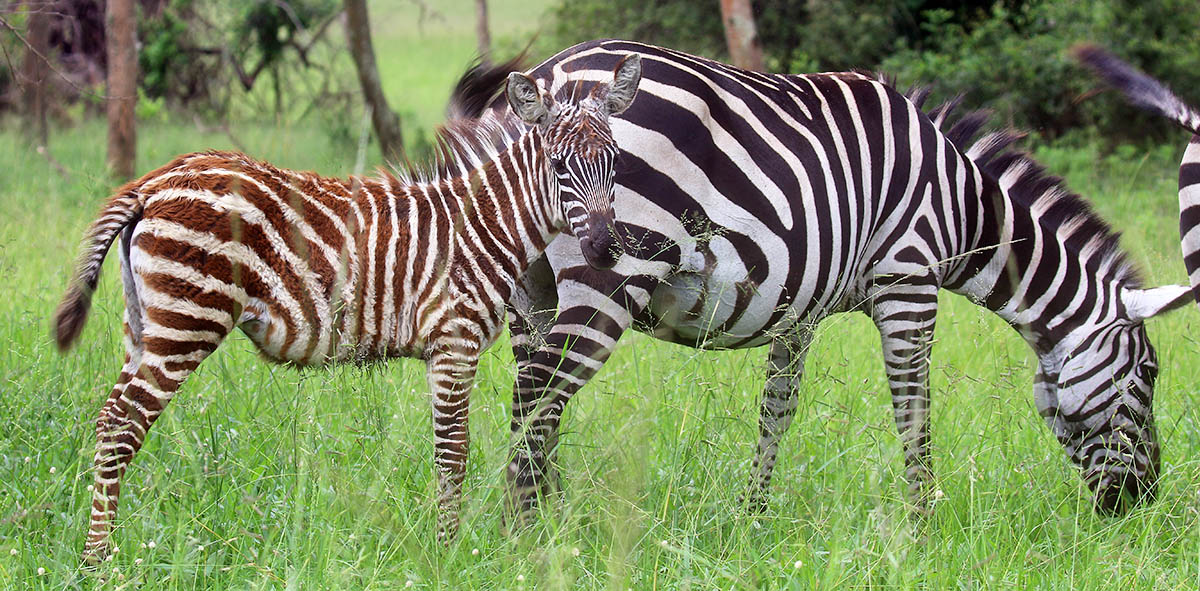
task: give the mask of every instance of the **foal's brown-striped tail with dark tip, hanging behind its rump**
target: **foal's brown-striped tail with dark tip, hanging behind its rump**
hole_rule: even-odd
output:
[[[138,192],[142,179],[122,186],[108,199],[100,216],[91,223],[83,241],[83,252],[76,263],[74,275],[62,302],[54,312],[54,341],[59,351],[67,351],[83,332],[91,308],[91,294],[100,280],[104,255],[126,226],[142,217],[144,202]]]

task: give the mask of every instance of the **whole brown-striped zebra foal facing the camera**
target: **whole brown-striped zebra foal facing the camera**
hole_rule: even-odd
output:
[[[508,78],[530,127],[492,117],[443,132],[433,172],[329,179],[202,153],[121,187],[89,229],[55,315],[67,348],[121,234],[125,366],[96,422],[88,562],[103,560],[120,479],[184,380],[234,329],[298,366],[419,357],[433,393],[439,536],[458,524],[468,394],[528,264],[570,228],[608,235],[617,147],[640,59],[587,95]],[[582,173],[580,172],[582,171]]]

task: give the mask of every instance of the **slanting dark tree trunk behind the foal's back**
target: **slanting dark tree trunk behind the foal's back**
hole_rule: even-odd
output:
[[[404,142],[400,133],[400,118],[388,107],[388,98],[379,84],[366,0],[346,0],[346,38],[350,46],[350,56],[354,58],[354,68],[359,72],[362,100],[371,109],[371,125],[379,139],[379,151],[384,160],[398,162],[404,154]]]

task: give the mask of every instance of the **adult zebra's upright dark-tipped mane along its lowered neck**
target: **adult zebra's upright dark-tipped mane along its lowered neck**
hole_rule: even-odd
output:
[[[877,79],[889,82],[886,78]],[[929,89],[914,86],[905,92],[905,97],[922,108],[929,97]],[[991,131],[974,139],[992,115],[988,109],[970,111],[946,129],[948,119],[961,102],[962,95],[958,95],[925,111],[925,114],[983,174],[1008,186],[1008,196],[1014,204],[1030,209],[1039,223],[1052,228],[1068,252],[1080,255],[1085,264],[1094,261],[1099,273],[1118,282],[1141,287],[1141,270],[1121,249],[1120,232],[1096,213],[1091,202],[1072,192],[1061,177],[1046,172],[1030,153],[1013,147],[1025,133],[1007,129]]]

